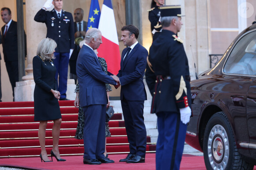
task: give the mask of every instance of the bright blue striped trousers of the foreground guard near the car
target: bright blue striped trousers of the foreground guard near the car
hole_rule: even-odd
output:
[[[156,170],[179,170],[187,124],[177,112],[158,112],[157,116]]]

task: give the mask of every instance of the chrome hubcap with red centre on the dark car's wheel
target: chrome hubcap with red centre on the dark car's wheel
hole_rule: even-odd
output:
[[[229,139],[221,125],[212,127],[208,138],[208,158],[212,169],[224,170],[229,159]]]

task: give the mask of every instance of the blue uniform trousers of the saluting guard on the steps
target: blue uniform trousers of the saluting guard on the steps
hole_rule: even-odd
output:
[[[55,74],[55,79],[58,83],[58,91],[60,92],[60,98],[66,98],[67,83],[68,83],[68,63],[69,63],[69,53],[54,53],[54,65],[57,69]],[[53,89],[55,90],[55,89]]]

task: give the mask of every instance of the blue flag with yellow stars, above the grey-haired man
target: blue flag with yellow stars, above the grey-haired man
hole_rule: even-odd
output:
[[[98,28],[100,16],[101,11],[98,0],[91,0],[87,30],[90,28]]]

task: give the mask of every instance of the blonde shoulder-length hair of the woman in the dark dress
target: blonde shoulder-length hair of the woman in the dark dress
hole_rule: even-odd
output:
[[[43,60],[45,60],[45,59],[55,59],[54,55],[52,57],[52,54],[53,54],[54,49],[56,47],[57,47],[57,44],[53,39],[44,38],[38,44],[37,55],[41,56],[41,58]]]

